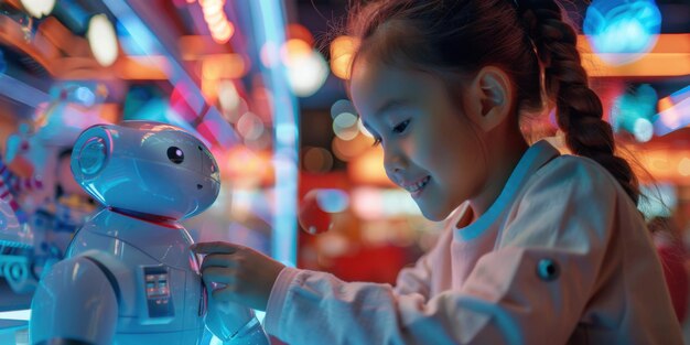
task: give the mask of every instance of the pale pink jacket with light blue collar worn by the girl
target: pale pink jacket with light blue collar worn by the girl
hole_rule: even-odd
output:
[[[396,287],[283,269],[266,330],[289,344],[682,344],[642,215],[594,161],[538,142],[468,213]]]

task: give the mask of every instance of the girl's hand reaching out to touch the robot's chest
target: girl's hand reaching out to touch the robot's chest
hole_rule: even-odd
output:
[[[273,283],[284,265],[230,242],[201,242],[191,249],[206,255],[202,262],[202,279],[207,287],[215,287],[211,292],[213,299],[266,310]]]

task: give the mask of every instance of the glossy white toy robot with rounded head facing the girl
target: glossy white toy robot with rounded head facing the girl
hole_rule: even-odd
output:
[[[96,125],[76,140],[72,172],[106,208],[41,279],[32,344],[194,345],[205,323],[226,344],[269,343],[251,310],[207,301],[177,223],[218,195],[218,165],[202,141],[160,122]]]

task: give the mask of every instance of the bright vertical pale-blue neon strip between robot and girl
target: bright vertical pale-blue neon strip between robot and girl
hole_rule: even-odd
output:
[[[284,10],[278,0],[250,1],[257,47],[265,44],[282,46],[285,42]],[[273,164],[276,166],[276,201],[271,256],[288,266],[297,262],[297,186],[298,186],[298,117],[297,99],[290,91],[282,63],[272,68],[261,65],[266,85],[272,91]]]

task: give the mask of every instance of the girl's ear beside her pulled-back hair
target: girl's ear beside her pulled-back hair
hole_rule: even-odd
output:
[[[465,95],[467,116],[484,132],[508,120],[514,93],[503,69],[494,66],[479,69]]]

